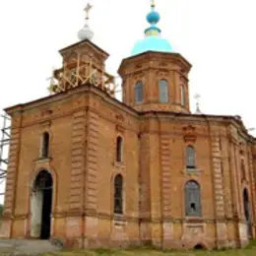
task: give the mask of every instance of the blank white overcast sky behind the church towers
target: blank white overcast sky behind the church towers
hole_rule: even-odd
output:
[[[150,0],[92,0],[93,41],[110,54],[116,74],[148,27]],[[192,65],[193,96],[201,95],[206,114],[242,116],[256,127],[256,1],[156,0],[162,36]],[[0,1],[0,109],[47,96],[52,67],[60,67],[58,50],[78,41],[86,0]],[[256,133],[253,133],[256,135]]]

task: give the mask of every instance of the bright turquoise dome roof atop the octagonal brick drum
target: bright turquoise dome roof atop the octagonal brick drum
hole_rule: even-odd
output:
[[[160,35],[151,35],[135,43],[132,56],[146,51],[171,52],[172,48],[168,40],[160,37]]]

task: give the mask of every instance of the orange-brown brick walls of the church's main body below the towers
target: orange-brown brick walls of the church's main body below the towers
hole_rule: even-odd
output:
[[[30,233],[30,185],[45,168],[54,181],[52,235],[77,239],[78,246],[246,243],[242,191],[249,191],[255,223],[255,149],[235,122],[171,113],[139,115],[91,87],[69,94],[45,99],[43,107],[24,106],[23,114],[13,115],[5,236]],[[50,134],[51,160],[38,160],[43,131]],[[117,136],[124,142],[122,163],[115,161]],[[196,149],[194,173],[185,167],[187,145]],[[124,178],[122,217],[113,215],[117,173]],[[202,218],[185,217],[184,184],[191,179],[201,186]],[[7,214],[14,216],[11,225]],[[9,234],[7,227],[12,227]]]

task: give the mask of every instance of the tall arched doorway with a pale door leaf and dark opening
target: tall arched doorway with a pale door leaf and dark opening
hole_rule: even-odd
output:
[[[52,177],[47,170],[41,170],[32,186],[32,229],[34,238],[48,239],[50,236],[52,204]]]

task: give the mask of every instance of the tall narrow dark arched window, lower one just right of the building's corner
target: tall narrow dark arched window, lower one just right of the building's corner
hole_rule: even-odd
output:
[[[114,214],[123,214],[123,177],[120,174],[114,178]]]

